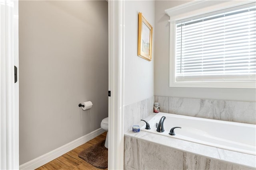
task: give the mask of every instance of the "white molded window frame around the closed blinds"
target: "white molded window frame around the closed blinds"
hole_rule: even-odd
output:
[[[256,88],[256,82],[242,82],[242,81],[186,81],[180,82],[175,79],[175,59],[176,59],[176,20],[183,20],[226,8],[234,8],[255,1],[192,1],[174,8],[165,10],[166,14],[170,16],[170,68],[169,68],[169,86],[170,87],[195,87],[195,88]],[[189,9],[189,10],[188,10]]]

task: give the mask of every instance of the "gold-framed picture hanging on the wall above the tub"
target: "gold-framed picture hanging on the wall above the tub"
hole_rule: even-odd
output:
[[[151,61],[152,59],[152,26],[146,18],[139,13],[138,23],[138,56]]]

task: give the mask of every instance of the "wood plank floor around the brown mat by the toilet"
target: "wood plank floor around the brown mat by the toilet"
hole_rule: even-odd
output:
[[[102,133],[101,135],[95,137],[94,139],[80,145],[79,147],[69,151],[68,153],[40,166],[36,170],[99,170],[91,164],[82,160],[78,157],[78,153],[92,145],[98,143],[99,141],[106,139],[107,133]],[[106,168],[105,170],[107,170]]]

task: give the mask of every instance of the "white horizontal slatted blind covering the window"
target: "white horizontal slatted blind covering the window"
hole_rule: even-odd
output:
[[[176,21],[176,81],[255,81],[255,3]]]

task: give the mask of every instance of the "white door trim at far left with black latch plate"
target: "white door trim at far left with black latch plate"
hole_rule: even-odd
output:
[[[0,0],[0,169],[19,169],[18,1]]]

